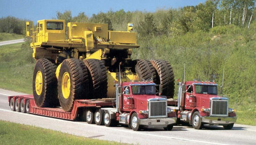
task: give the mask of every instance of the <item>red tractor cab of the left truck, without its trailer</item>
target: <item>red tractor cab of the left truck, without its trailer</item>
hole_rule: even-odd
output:
[[[154,82],[122,82],[116,91],[117,108],[102,109],[109,122],[118,121],[136,131],[143,126],[171,130],[176,123],[175,109],[167,106],[165,96],[156,96]]]

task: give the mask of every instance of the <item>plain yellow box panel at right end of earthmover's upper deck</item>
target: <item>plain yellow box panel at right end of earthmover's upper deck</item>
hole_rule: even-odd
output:
[[[137,44],[137,34],[135,32],[109,31],[109,41],[123,44]]]

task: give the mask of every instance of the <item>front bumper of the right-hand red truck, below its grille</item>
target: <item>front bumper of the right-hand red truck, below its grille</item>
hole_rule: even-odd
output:
[[[201,122],[209,125],[228,125],[235,123],[237,117],[201,117]]]

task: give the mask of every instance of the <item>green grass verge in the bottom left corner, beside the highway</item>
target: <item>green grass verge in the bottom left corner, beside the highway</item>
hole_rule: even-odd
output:
[[[0,121],[1,144],[123,144]]]

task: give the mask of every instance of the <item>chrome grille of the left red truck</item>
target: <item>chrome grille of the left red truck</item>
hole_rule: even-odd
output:
[[[166,101],[150,101],[149,102],[149,118],[167,117]]]

